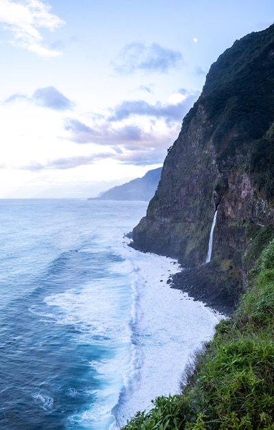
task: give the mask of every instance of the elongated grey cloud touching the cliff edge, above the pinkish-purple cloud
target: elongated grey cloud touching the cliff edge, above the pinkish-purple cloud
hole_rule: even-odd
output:
[[[181,92],[181,94],[183,94]],[[122,121],[132,115],[145,115],[149,117],[164,118],[166,122],[182,121],[184,115],[188,113],[190,107],[197,100],[198,93],[185,95],[177,103],[149,104],[144,100],[129,100],[122,102],[113,109],[109,121]],[[179,98],[177,98],[179,100]]]

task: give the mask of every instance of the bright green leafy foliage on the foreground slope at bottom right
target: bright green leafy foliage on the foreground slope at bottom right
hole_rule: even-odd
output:
[[[274,430],[274,240],[236,313],[216,326],[185,379],[182,394],[156,398],[124,430]]]

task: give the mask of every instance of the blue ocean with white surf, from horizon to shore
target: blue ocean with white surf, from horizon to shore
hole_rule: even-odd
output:
[[[0,429],[116,430],[179,392],[221,315],[129,247],[147,202],[0,201]]]

